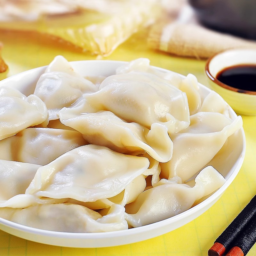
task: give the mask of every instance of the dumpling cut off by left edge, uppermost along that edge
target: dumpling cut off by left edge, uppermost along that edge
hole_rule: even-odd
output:
[[[36,95],[26,97],[16,89],[0,87],[0,140],[43,123],[47,116],[44,102]]]

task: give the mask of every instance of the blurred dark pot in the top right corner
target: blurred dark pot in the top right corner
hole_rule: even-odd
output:
[[[256,39],[256,0],[188,0],[206,27]]]

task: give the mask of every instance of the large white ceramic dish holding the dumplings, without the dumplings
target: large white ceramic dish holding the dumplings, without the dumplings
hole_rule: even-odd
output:
[[[109,76],[115,73],[121,61],[109,60],[86,60],[71,62],[73,68],[83,76]],[[40,67],[25,71],[18,75],[9,77],[0,81],[0,86],[12,86],[19,89],[24,94],[33,93],[36,81],[44,73],[46,67]],[[160,69],[160,68],[157,68]],[[160,69],[164,71],[164,69]],[[211,90],[202,84],[199,84],[204,98]],[[236,113],[230,108],[231,118],[236,118]],[[122,244],[130,244],[146,240],[152,237],[160,236],[179,228],[209,209],[228,188],[239,172],[245,153],[244,130],[240,129],[230,143],[234,144],[232,152],[224,154],[218,163],[212,165],[226,178],[226,183],[203,202],[197,204],[191,209],[182,212],[169,219],[158,221],[143,227],[131,228],[127,230],[112,231],[105,233],[68,233],[48,231],[37,228],[31,228],[0,218],[0,229],[14,236],[18,236],[34,242],[51,244],[64,247],[108,247]],[[216,166],[217,165],[217,166]]]

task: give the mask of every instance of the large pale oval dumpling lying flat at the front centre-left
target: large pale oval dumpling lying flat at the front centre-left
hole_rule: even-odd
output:
[[[118,195],[148,166],[146,157],[85,145],[40,167],[26,194],[94,202]]]

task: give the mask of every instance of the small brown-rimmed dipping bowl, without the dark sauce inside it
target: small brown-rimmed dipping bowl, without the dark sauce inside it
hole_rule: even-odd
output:
[[[234,49],[220,52],[207,60],[205,73],[209,78],[210,88],[219,93],[236,113],[256,115],[256,91],[237,89],[223,84],[216,78],[223,69],[243,64],[256,65],[255,49]]]

